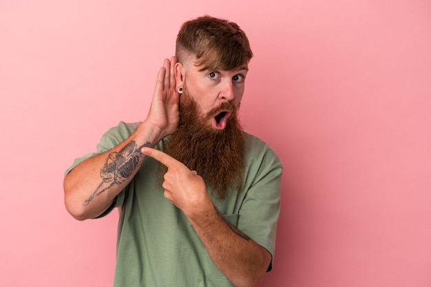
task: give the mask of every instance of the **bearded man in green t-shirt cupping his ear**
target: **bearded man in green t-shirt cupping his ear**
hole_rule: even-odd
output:
[[[184,23],[147,118],[67,170],[74,218],[120,209],[114,286],[257,286],[271,270],[282,165],[238,122],[252,56],[235,23]]]

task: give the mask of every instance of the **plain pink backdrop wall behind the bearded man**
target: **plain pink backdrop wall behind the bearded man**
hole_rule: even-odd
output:
[[[1,0],[0,286],[112,286],[118,216],[72,219],[63,172],[202,14],[249,35],[242,122],[284,163],[261,286],[431,286],[428,0]]]

